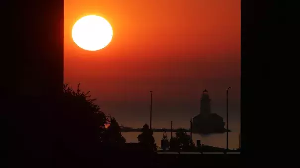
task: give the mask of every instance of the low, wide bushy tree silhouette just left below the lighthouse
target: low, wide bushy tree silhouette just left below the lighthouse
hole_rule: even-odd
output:
[[[177,130],[176,137],[170,139],[170,150],[172,151],[190,151],[194,147],[195,144],[190,135],[187,135],[182,128]]]

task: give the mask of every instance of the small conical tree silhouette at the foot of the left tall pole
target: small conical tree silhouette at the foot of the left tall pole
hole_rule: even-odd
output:
[[[153,137],[153,130],[151,130],[148,124],[144,124],[142,133],[137,137],[139,143],[147,150],[156,151],[157,147]]]

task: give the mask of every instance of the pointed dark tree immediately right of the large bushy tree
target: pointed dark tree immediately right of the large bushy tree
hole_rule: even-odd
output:
[[[105,131],[106,143],[112,147],[123,147],[126,139],[121,134],[121,128],[114,117],[110,117],[110,125]]]

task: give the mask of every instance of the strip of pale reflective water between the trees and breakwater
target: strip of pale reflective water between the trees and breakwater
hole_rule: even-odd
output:
[[[126,142],[138,142],[137,136],[141,132],[122,132],[122,135],[126,139]],[[187,134],[190,134],[187,132]],[[228,133],[228,148],[234,149],[239,148],[239,132],[229,132]],[[173,132],[175,136],[175,132]],[[157,146],[161,146],[161,139],[163,137],[163,132],[154,132],[153,137]],[[168,140],[171,137],[171,132],[167,132]],[[199,135],[192,134],[192,139],[196,144],[197,140],[201,140],[204,145],[215,146],[220,148],[226,148],[226,133],[223,134],[211,134],[211,135]]]

